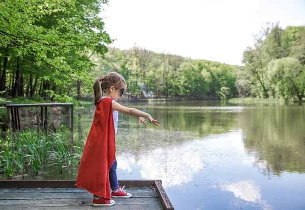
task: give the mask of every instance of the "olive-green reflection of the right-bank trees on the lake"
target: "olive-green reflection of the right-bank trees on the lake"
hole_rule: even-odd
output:
[[[302,106],[248,109],[238,115],[245,149],[255,153],[255,163],[266,176],[305,172],[304,125]]]

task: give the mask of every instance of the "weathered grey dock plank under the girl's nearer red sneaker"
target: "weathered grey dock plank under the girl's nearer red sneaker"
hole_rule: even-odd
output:
[[[1,200],[0,209],[4,207],[55,207],[55,206],[90,206],[93,198],[69,198],[69,199],[29,199],[29,200]],[[116,205],[159,205],[162,208],[158,197],[155,198],[116,198]]]

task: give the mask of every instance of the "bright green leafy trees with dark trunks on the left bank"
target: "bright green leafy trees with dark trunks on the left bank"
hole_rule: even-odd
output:
[[[103,55],[105,45],[112,43],[98,16],[105,3],[2,1],[0,91],[6,90],[13,97],[34,97],[50,90],[57,98],[65,98],[76,84],[90,81],[86,74],[93,66],[89,53]]]

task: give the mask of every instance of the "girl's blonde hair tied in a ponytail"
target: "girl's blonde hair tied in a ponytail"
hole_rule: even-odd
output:
[[[97,78],[93,85],[94,106],[97,106],[98,101],[102,97],[101,89],[104,93],[106,93],[107,88],[111,86],[115,86],[115,87],[120,86],[121,83],[124,83],[126,85],[126,81],[124,77],[116,72],[110,72],[107,75],[105,75],[104,78]]]

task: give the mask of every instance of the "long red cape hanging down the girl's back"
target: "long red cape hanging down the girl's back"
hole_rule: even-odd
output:
[[[111,199],[109,170],[115,160],[114,137],[112,99],[103,98],[96,106],[75,185],[106,199]]]

